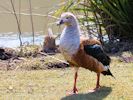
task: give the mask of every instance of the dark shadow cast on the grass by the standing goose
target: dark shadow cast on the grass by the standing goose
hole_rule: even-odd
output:
[[[63,97],[61,100],[103,100],[112,91],[111,87],[101,87],[101,89],[94,93],[74,94]]]

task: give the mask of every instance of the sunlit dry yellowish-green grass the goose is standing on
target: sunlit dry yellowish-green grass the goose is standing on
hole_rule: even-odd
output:
[[[116,79],[101,75],[102,88],[88,93],[95,87],[96,74],[80,68],[79,93],[70,96],[66,92],[73,86],[73,68],[0,71],[0,100],[133,100],[133,64],[112,59]]]

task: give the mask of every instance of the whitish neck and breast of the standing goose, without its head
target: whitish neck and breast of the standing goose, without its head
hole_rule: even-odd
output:
[[[77,25],[66,26],[61,34],[60,49],[70,55],[78,51],[80,45],[80,29]]]

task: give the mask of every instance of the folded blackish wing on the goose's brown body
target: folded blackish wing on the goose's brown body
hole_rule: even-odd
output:
[[[111,62],[110,57],[103,51],[101,45],[84,45],[84,50],[88,55],[93,56],[105,66]]]

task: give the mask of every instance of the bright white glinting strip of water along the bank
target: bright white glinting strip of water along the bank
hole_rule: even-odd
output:
[[[44,41],[44,35],[35,34],[35,44],[42,45]],[[22,42],[24,45],[32,44],[33,37],[31,33],[23,33],[22,35]],[[0,47],[11,47],[16,48],[20,46],[20,41],[17,36],[17,33],[0,33]]]

